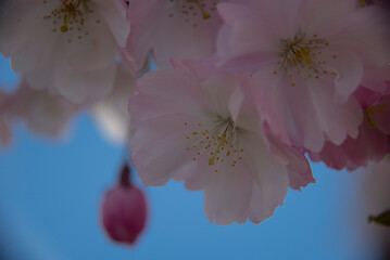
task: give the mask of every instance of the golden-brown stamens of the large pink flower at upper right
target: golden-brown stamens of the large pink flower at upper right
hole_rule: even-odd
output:
[[[318,38],[317,34],[309,37],[299,29],[292,39],[280,39],[280,42],[279,69],[274,70],[274,75],[287,73],[292,87],[295,86],[293,77],[298,75],[310,80],[319,79],[322,74],[337,74],[327,69],[329,53],[326,49],[329,42]],[[331,55],[331,58],[337,58],[337,55]]]

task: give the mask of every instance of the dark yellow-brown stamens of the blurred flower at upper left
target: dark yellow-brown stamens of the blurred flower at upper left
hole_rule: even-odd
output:
[[[48,0],[43,0],[43,4],[48,4]],[[83,37],[89,35],[85,28],[86,16],[89,20],[95,16],[88,0],[62,0],[60,5],[43,16],[43,20],[51,22],[53,32],[60,31],[67,35],[67,42],[71,43],[74,38],[81,40]],[[95,20],[97,24],[100,23],[99,17],[95,17]]]

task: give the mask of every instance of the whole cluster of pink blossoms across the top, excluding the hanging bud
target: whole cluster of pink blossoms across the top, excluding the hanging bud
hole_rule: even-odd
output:
[[[143,184],[184,181],[210,221],[260,223],[315,182],[307,157],[354,170],[389,153],[389,16],[363,0],[13,1],[0,52],[24,83],[0,95],[0,138],[15,116],[58,132],[53,114],[87,107],[130,136]]]

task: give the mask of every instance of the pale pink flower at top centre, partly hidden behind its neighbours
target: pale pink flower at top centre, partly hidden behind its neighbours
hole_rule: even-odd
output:
[[[153,50],[158,67],[169,66],[169,57],[210,56],[222,24],[216,12],[221,0],[131,0],[128,17],[131,31],[128,50],[139,68]]]

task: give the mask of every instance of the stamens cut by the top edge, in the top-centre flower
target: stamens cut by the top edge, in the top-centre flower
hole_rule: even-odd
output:
[[[209,20],[216,10],[214,0],[169,0],[168,17],[183,16],[186,23],[198,26],[199,18]]]

